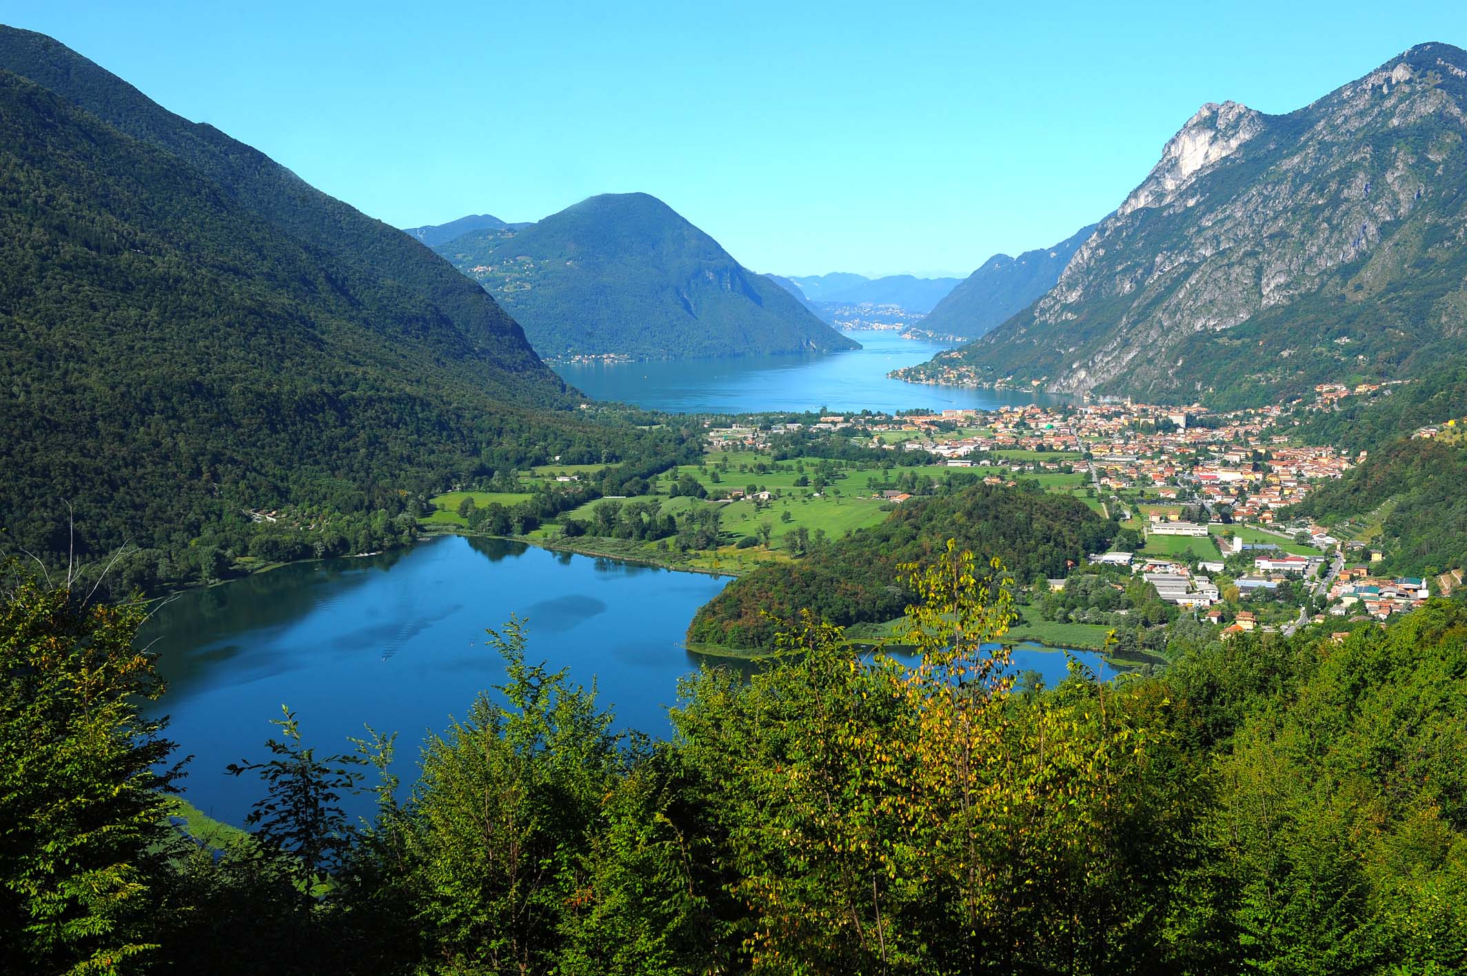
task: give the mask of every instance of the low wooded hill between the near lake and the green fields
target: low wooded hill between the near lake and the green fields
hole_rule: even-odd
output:
[[[901,616],[911,590],[895,584],[902,562],[930,559],[949,537],[1002,559],[1022,583],[1064,577],[1067,562],[1105,552],[1118,527],[1078,499],[1040,490],[970,484],[896,508],[882,524],[813,545],[795,562],[741,575],[703,606],[688,627],[695,644],[767,649],[801,611],[833,624]]]

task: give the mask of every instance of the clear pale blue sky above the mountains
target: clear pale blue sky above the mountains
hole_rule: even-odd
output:
[[[961,273],[1113,208],[1206,101],[1288,112],[1467,3],[9,0],[398,226],[645,191],[760,272]]]

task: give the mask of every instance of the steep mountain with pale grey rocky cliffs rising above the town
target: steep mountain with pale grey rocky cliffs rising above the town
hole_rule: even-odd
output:
[[[1216,407],[1467,355],[1467,53],[1207,104],[1031,308],[905,376]]]

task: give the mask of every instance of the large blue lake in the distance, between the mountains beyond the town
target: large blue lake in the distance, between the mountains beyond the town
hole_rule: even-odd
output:
[[[993,409],[1005,404],[1058,402],[1012,390],[930,386],[889,379],[890,370],[926,363],[946,346],[902,339],[896,332],[848,332],[851,352],[761,355],[729,360],[565,364],[565,380],[596,399],[647,409],[748,414],[764,409]]]

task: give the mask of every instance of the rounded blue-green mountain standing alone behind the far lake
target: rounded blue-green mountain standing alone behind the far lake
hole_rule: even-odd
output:
[[[647,194],[591,197],[434,250],[493,292],[552,358],[860,348]]]

